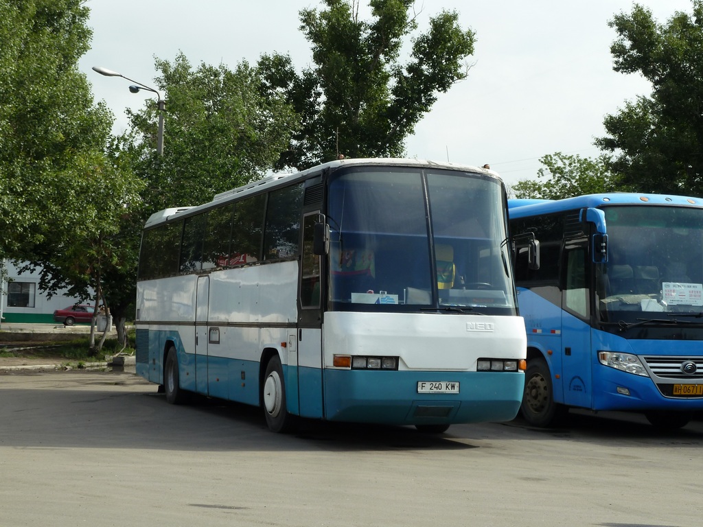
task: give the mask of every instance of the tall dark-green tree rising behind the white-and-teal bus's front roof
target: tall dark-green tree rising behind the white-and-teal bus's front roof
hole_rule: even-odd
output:
[[[404,140],[445,93],[467,77],[463,60],[474,34],[455,11],[430,19],[412,39],[410,60],[399,62],[404,39],[418,24],[413,0],[370,0],[373,20],[359,18],[357,0],[324,0],[322,11],[300,11],[300,30],[314,65],[295,72],[290,56],[264,55],[259,70],[268,97],[285,94],[302,121],[278,168],[304,169],[347,157],[404,154]]]

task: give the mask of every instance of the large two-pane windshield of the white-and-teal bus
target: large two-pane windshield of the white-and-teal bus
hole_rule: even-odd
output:
[[[329,187],[330,306],[515,315],[501,200],[482,174],[344,171]]]

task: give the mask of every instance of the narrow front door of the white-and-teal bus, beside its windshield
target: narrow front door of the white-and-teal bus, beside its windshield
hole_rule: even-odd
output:
[[[297,384],[299,415],[323,417],[322,304],[325,284],[322,259],[313,252],[315,224],[320,211],[305,212],[298,284]],[[289,363],[290,366],[290,363]]]

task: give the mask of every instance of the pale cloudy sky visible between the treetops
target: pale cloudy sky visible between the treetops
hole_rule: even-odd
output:
[[[361,0],[363,6],[367,1]],[[692,12],[690,0],[640,0],[664,23],[676,11]],[[152,95],[129,92],[129,82],[103,77],[100,66],[155,86],[155,58],[179,52],[193,67],[288,53],[301,70],[310,65],[309,43],[298,12],[321,8],[317,0],[87,0],[91,50],[79,61],[115,114],[115,133],[127,129],[126,108],[143,108]],[[539,158],[555,152],[596,157],[605,115],[628,100],[649,96],[639,74],[612,70],[608,21],[630,13],[624,0],[418,0],[420,30],[443,10],[459,13],[476,36],[467,59],[469,76],[440,93],[432,110],[407,138],[408,157],[491,165],[506,183],[536,178]],[[362,11],[363,12],[363,11]],[[368,18],[367,18],[368,19]],[[165,123],[168,153],[168,117]]]

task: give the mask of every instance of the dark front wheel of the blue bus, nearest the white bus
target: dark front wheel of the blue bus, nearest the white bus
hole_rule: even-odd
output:
[[[568,408],[554,402],[549,367],[543,358],[529,361],[525,372],[525,389],[520,412],[534,427],[551,427],[567,413]]]

